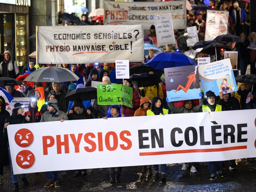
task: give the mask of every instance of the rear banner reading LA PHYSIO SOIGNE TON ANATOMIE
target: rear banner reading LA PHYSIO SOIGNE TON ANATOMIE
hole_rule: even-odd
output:
[[[186,28],[186,1],[114,2],[105,1],[104,25],[143,25],[150,29],[154,16],[172,13],[174,29]]]

